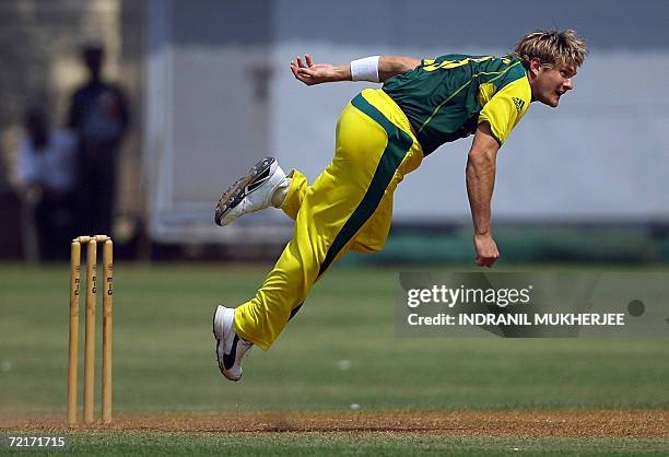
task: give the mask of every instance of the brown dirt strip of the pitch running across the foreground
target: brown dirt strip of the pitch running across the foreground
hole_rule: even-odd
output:
[[[669,438],[667,410],[338,411],[117,414],[74,430],[160,432],[397,432],[451,436]],[[0,430],[66,430],[63,417],[0,417]]]

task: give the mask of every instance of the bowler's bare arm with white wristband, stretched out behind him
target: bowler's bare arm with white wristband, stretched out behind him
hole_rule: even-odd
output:
[[[333,66],[331,63],[314,63],[312,58],[305,55],[304,60],[297,56],[291,62],[291,71],[295,79],[306,85],[354,80],[384,82],[404,71],[413,70],[420,63],[419,59],[412,57],[376,56]]]

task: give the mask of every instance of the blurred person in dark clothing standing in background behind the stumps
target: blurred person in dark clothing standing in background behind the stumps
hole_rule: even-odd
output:
[[[79,231],[111,234],[116,168],[120,142],[129,125],[120,87],[102,78],[104,49],[86,46],[82,59],[89,80],[71,98],[68,127],[77,134]]]

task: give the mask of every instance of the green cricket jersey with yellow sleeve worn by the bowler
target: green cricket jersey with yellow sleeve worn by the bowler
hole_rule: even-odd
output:
[[[531,102],[525,68],[515,55],[450,54],[423,60],[388,79],[383,90],[399,105],[425,155],[489,122],[502,145]]]

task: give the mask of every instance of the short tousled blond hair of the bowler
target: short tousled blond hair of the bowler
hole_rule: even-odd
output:
[[[573,65],[580,67],[588,49],[585,39],[567,28],[558,31],[533,31],[520,38],[514,54],[520,58],[525,68],[530,60],[538,58],[545,67]]]

